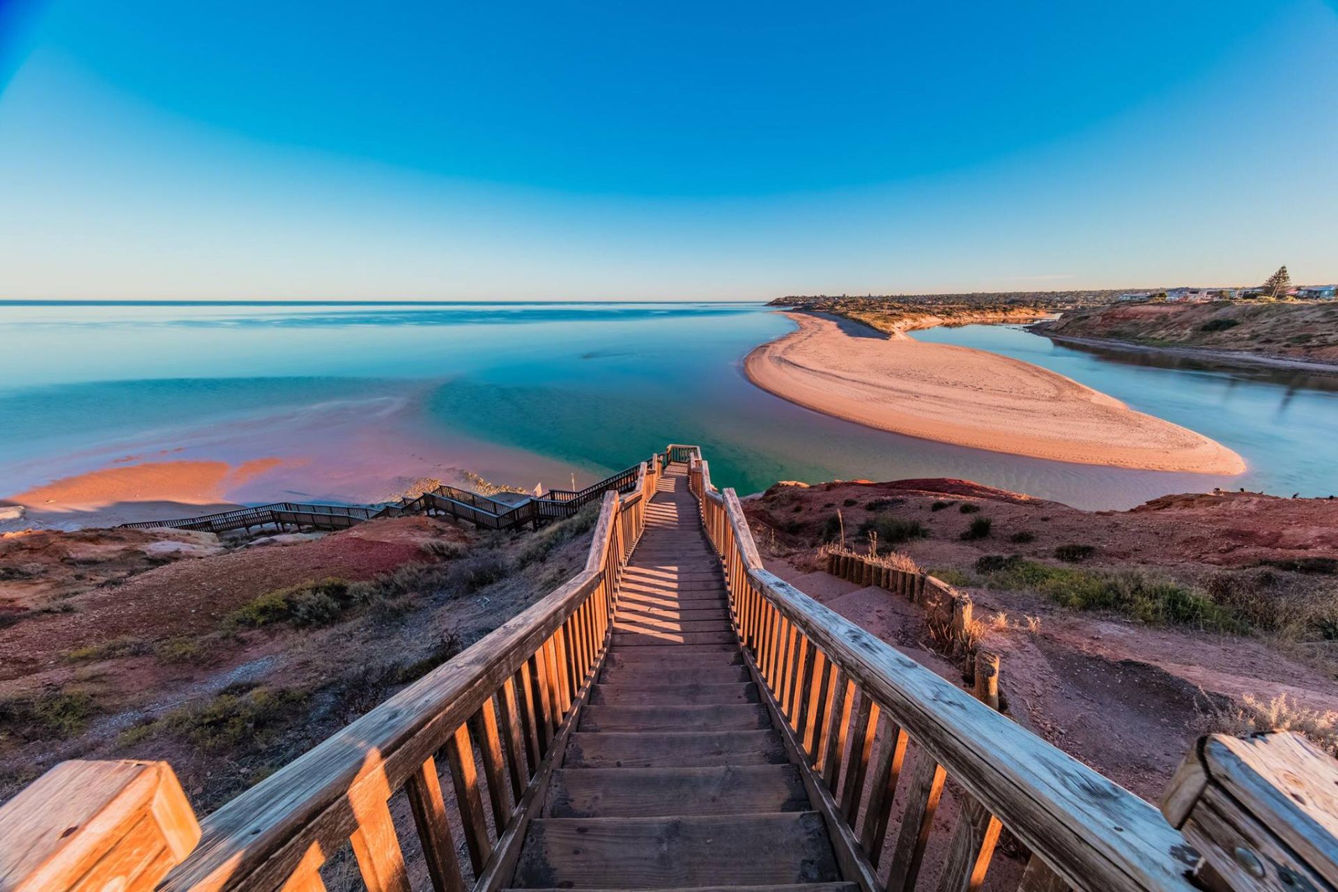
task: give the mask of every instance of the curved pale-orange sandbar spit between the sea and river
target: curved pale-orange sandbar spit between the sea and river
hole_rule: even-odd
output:
[[[1240,473],[1239,455],[1135,412],[1077,381],[1009,357],[906,336],[851,337],[831,320],[799,325],[748,354],[748,378],[826,415],[925,440],[1054,461]]]

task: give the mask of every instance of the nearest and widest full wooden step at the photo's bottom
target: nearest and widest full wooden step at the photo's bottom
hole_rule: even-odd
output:
[[[783,812],[537,818],[512,885],[653,889],[839,879],[822,816]]]

